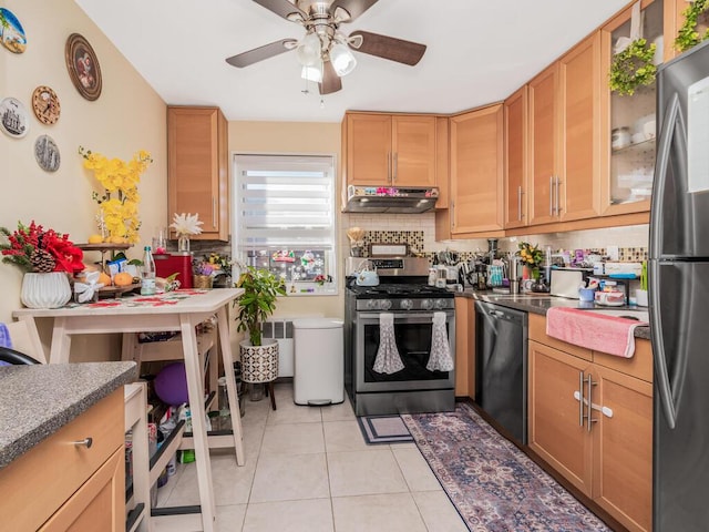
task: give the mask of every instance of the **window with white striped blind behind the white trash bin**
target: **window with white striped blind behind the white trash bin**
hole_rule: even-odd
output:
[[[335,162],[236,155],[234,256],[279,275],[289,294],[335,294]]]

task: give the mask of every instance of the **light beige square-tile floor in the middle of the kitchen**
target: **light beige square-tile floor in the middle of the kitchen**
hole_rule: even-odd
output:
[[[349,401],[292,402],[292,385],[246,398],[246,464],[212,451],[219,532],[458,532],[467,528],[413,443],[368,446]],[[158,507],[198,504],[194,463],[158,490]],[[156,519],[157,532],[202,530],[201,516]]]

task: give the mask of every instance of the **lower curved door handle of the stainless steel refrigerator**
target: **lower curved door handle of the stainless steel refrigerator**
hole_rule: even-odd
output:
[[[649,298],[649,316],[653,334],[650,335],[650,342],[653,345],[653,355],[655,357],[655,383],[657,385],[657,391],[659,393],[660,405],[665,412],[665,419],[667,426],[670,429],[675,429],[677,424],[677,409],[675,408],[675,400],[672,397],[672,388],[670,385],[669,374],[667,371],[667,359],[665,358],[665,339],[662,336],[662,327],[660,321],[660,306],[659,306],[659,280],[658,272],[659,266],[657,260],[649,260],[648,264],[648,298]]]

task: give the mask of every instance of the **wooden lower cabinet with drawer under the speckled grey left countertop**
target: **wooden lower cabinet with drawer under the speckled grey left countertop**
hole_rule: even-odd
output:
[[[0,529],[124,531],[123,409],[121,387],[0,470]]]

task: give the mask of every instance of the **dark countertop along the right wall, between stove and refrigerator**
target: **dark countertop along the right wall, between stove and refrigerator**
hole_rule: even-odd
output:
[[[524,310],[533,314],[541,314],[546,316],[546,311],[552,307],[567,307],[567,308],[598,308],[593,301],[579,301],[578,299],[566,299],[565,297],[549,296],[548,294],[497,294],[494,291],[479,291],[471,288],[465,288],[463,291],[455,293],[458,297],[467,297],[481,301],[494,303],[495,305],[502,305],[503,307],[516,308],[517,310]],[[628,309],[630,313],[637,310],[638,307],[625,306],[613,307],[614,309]],[[650,339],[649,327],[636,327],[635,337]]]

